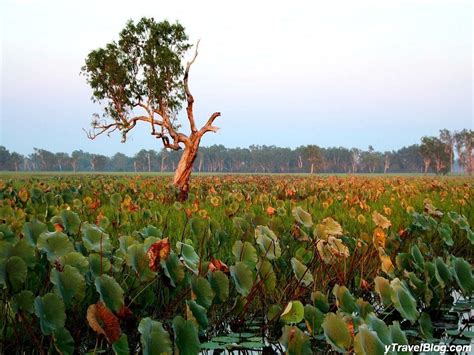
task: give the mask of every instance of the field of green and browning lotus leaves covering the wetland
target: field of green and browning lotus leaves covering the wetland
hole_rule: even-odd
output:
[[[472,338],[472,179],[0,179],[0,351],[383,354]],[[471,325],[469,325],[471,324]]]

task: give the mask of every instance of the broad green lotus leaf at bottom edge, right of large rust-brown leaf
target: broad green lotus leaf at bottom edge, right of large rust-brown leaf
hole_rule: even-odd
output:
[[[173,353],[170,335],[161,322],[149,317],[143,318],[138,325],[138,331],[141,334],[140,342],[144,355],[171,355]]]

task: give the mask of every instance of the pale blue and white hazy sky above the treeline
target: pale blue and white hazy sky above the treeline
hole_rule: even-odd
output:
[[[126,144],[82,131],[99,111],[79,76],[84,58],[142,16],[178,20],[201,39],[196,116],[222,112],[204,145],[386,150],[473,128],[469,0],[1,0],[0,145],[161,149],[148,127]]]

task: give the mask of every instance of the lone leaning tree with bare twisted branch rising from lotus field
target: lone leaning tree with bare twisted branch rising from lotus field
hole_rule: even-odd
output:
[[[89,138],[119,131],[124,142],[138,122],[146,122],[150,133],[161,139],[165,148],[184,148],[173,179],[182,199],[187,197],[201,138],[207,132],[217,131],[213,123],[221,115],[214,112],[201,129],[196,126],[194,97],[188,80],[189,69],[198,54],[197,45],[194,57],[185,68],[182,66],[190,47],[179,23],[142,18],[136,24],[129,21],[118,42],[89,53],[82,68],[93,89],[94,100],[105,104],[102,117],[97,115],[92,121]],[[184,100],[191,128],[189,135],[179,132],[176,122]],[[135,115],[138,110],[143,115]]]

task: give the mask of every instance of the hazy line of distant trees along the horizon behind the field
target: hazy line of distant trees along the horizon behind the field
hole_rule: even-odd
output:
[[[199,148],[194,171],[219,173],[428,173],[446,174],[474,170],[474,131],[451,132],[439,137],[423,137],[420,144],[397,151],[306,145],[296,149],[252,145],[226,148],[213,145]],[[112,157],[75,150],[71,154],[34,148],[24,156],[0,146],[2,171],[174,171],[180,151],[141,150],[128,157]]]

